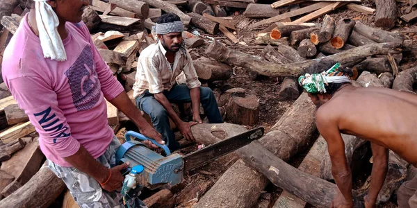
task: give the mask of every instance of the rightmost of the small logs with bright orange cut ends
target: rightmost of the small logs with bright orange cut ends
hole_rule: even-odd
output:
[[[349,38],[354,24],[356,24],[356,22],[352,19],[341,19],[337,22],[336,28],[334,28],[332,40],[330,40],[330,43],[335,49],[343,48],[347,42],[347,38]]]

